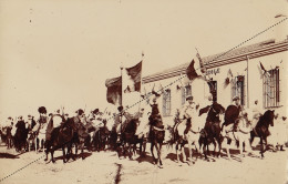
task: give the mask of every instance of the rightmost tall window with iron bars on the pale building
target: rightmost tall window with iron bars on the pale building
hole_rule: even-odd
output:
[[[280,105],[279,69],[268,71],[264,78],[264,106],[272,108]]]

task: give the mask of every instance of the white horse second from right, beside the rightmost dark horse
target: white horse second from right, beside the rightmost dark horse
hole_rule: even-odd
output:
[[[226,152],[227,152],[227,156],[228,160],[230,160],[230,143],[232,141],[235,141],[237,149],[239,149],[240,152],[240,161],[243,161],[244,154],[244,145],[247,149],[247,151],[249,152],[249,154],[251,154],[253,150],[250,147],[250,143],[249,143],[249,133],[251,131],[251,119],[250,119],[251,113],[249,112],[243,112],[243,115],[240,115],[234,124],[234,129],[229,130],[228,132],[223,133],[223,136],[225,139],[227,139],[227,147],[226,147]]]

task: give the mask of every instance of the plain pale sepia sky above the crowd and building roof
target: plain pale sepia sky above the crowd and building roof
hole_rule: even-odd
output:
[[[287,0],[1,0],[0,120],[42,105],[105,109],[105,80],[142,52],[145,76],[189,62],[195,48],[227,51],[287,10]]]

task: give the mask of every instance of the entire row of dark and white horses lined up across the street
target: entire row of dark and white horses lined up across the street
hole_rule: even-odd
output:
[[[192,129],[188,133],[183,133],[185,123],[181,123],[179,119],[176,119],[174,126],[164,127],[164,122],[158,115],[157,105],[152,105],[152,111],[144,114],[142,119],[126,120],[125,126],[121,124],[120,131],[116,129],[110,130],[106,126],[107,120],[103,119],[103,126],[94,127],[93,124],[86,120],[85,123],[78,123],[75,117],[69,117],[65,122],[53,129],[50,140],[44,140],[40,136],[41,131],[45,130],[45,126],[39,129],[38,132],[33,132],[25,127],[22,131],[17,131],[14,136],[11,135],[9,127],[1,130],[1,140],[4,141],[10,149],[14,143],[18,151],[22,149],[31,150],[45,149],[45,161],[48,161],[49,153],[51,154],[52,162],[55,162],[53,156],[54,151],[62,149],[63,162],[68,162],[70,159],[76,160],[78,157],[85,159],[84,150],[102,151],[110,149],[117,152],[119,157],[128,156],[132,159],[133,154],[137,151],[141,155],[145,155],[146,144],[151,143],[151,153],[153,161],[160,167],[163,167],[162,162],[162,146],[163,144],[175,145],[177,160],[179,162],[181,151],[183,154],[183,161],[189,164],[192,162],[193,150],[192,145],[195,145],[195,151],[200,152],[206,160],[209,152],[209,144],[214,145],[215,156],[220,155],[222,143],[227,141],[227,156],[230,157],[229,150],[232,149],[232,142],[234,141],[239,145],[240,155],[243,155],[244,146],[247,149],[254,137],[260,139],[260,155],[264,157],[264,153],[267,151],[267,136],[269,136],[269,125],[274,125],[274,111],[267,110],[259,120],[256,122],[254,129],[247,129],[247,123],[251,123],[253,120],[250,112],[246,114],[245,119],[235,119],[235,114],[239,114],[234,105],[228,106],[226,110],[217,103],[208,105],[203,109],[197,109],[197,117],[193,119]],[[147,115],[150,114],[150,115]],[[206,114],[206,115],[205,115]],[[203,116],[205,122],[203,122]],[[224,120],[222,120],[222,116]],[[198,119],[202,117],[202,119]],[[138,131],[142,123],[146,123],[148,131]],[[235,124],[230,131],[223,131],[223,124]],[[9,132],[10,131],[10,132]],[[138,133],[140,132],[140,133]],[[42,133],[43,134],[43,133]],[[42,143],[42,144],[41,144]],[[41,144],[41,145],[39,145]],[[184,152],[184,147],[188,146],[188,157]],[[140,145],[140,146],[137,146]],[[218,152],[216,147],[218,146]],[[154,154],[156,149],[157,156]],[[81,154],[78,151],[81,150]],[[199,154],[197,154],[199,155]],[[197,157],[196,157],[197,159]]]

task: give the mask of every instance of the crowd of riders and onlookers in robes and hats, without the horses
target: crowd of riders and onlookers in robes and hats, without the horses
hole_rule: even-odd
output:
[[[127,124],[132,120],[137,120],[138,129],[135,132],[137,136],[150,136],[151,132],[151,122],[155,119],[162,120],[161,112],[157,106],[157,98],[154,96],[152,103],[147,103],[147,106],[141,108],[140,111],[135,114],[128,113],[123,106],[117,108],[117,112],[100,112],[99,109],[90,111],[88,114],[79,109],[75,111],[74,116],[70,116],[64,113],[62,110],[56,110],[52,113],[48,113],[44,106],[40,106],[38,109],[39,116],[27,115],[24,119],[22,115],[18,116],[17,120],[9,116],[7,119],[6,125],[0,124],[0,133],[1,133],[1,142],[4,142],[8,149],[16,147],[17,151],[27,151],[30,146],[32,146],[37,151],[41,151],[44,149],[44,142],[51,139],[51,134],[55,127],[61,127],[65,124],[68,119],[73,119],[75,123],[80,124],[81,127],[85,129],[93,137],[95,132],[100,130],[100,127],[106,127],[109,132],[114,132],[116,134],[121,134]],[[241,131],[246,134],[250,133],[255,130],[259,119],[264,115],[265,112],[258,106],[258,101],[255,101],[254,106],[248,110],[244,109],[240,105],[239,96],[235,96],[233,99],[233,104],[230,106],[234,108],[234,116],[232,116],[232,122],[224,120],[224,115],[227,115],[228,108],[225,110],[224,108],[219,109],[219,115],[217,115],[216,120],[209,120],[210,116],[207,114],[205,122],[200,122],[202,126],[195,125],[203,113],[207,113],[210,109],[215,111],[213,106],[220,106],[216,101],[213,101],[213,98],[208,98],[210,104],[207,106],[199,106],[194,102],[193,96],[186,98],[186,103],[177,109],[175,114],[175,124],[173,127],[166,126],[165,129],[173,129],[171,132],[172,139],[175,139],[175,132],[177,130],[178,135],[182,139],[187,139],[187,134],[189,131],[197,133],[200,132],[200,129],[209,125],[214,125],[214,123],[222,123],[222,136],[228,136],[230,132]],[[205,108],[207,108],[207,112],[205,112]],[[208,112],[209,113],[209,112]],[[287,122],[286,115],[279,114],[275,111],[274,114],[274,126],[270,126],[268,131],[268,143],[272,145],[274,150],[285,150],[285,143],[287,142]],[[203,120],[203,119],[202,119]],[[247,121],[239,121],[247,120]],[[239,125],[239,123],[244,123]],[[163,123],[165,126],[165,122]],[[42,134],[42,136],[41,136]],[[167,137],[167,136],[165,136]],[[20,140],[19,140],[20,139]],[[147,139],[148,140],[148,139]],[[228,139],[229,140],[229,139]],[[168,142],[168,140],[165,140]],[[174,140],[175,142],[175,140]],[[246,144],[248,144],[246,142]],[[248,146],[249,149],[249,146]]]

